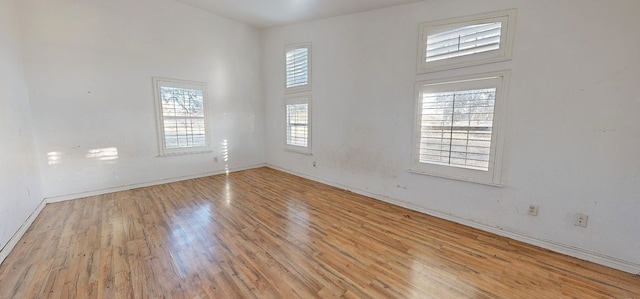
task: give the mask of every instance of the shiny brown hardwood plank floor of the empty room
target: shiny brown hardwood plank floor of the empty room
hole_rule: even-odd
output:
[[[640,298],[640,277],[269,168],[45,207],[0,298]]]

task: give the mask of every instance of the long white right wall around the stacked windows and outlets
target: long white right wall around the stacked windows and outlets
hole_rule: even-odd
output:
[[[512,61],[416,75],[419,23],[509,8]],[[635,0],[441,0],[267,30],[267,163],[638,273],[638,11]],[[283,150],[283,48],[298,42],[313,44],[313,156]],[[512,71],[505,187],[407,172],[415,82],[501,69]]]

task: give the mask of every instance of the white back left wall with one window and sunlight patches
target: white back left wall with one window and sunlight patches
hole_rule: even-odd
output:
[[[257,29],[174,0],[19,3],[49,200],[264,163]],[[152,76],[208,84],[213,153],[157,157]]]

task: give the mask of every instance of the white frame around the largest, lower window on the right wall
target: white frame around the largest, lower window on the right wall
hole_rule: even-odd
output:
[[[413,152],[409,171],[419,174],[444,177],[492,186],[502,186],[502,156],[504,144],[504,125],[506,122],[507,86],[509,71],[476,74],[421,81],[416,83],[415,122],[413,131]],[[422,129],[422,93],[455,91],[476,88],[496,88],[489,169],[487,171],[450,165],[420,162],[420,138]]]

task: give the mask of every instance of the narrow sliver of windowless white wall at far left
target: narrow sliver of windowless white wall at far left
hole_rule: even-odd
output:
[[[0,262],[43,199],[13,4],[13,0],[0,0]]]

